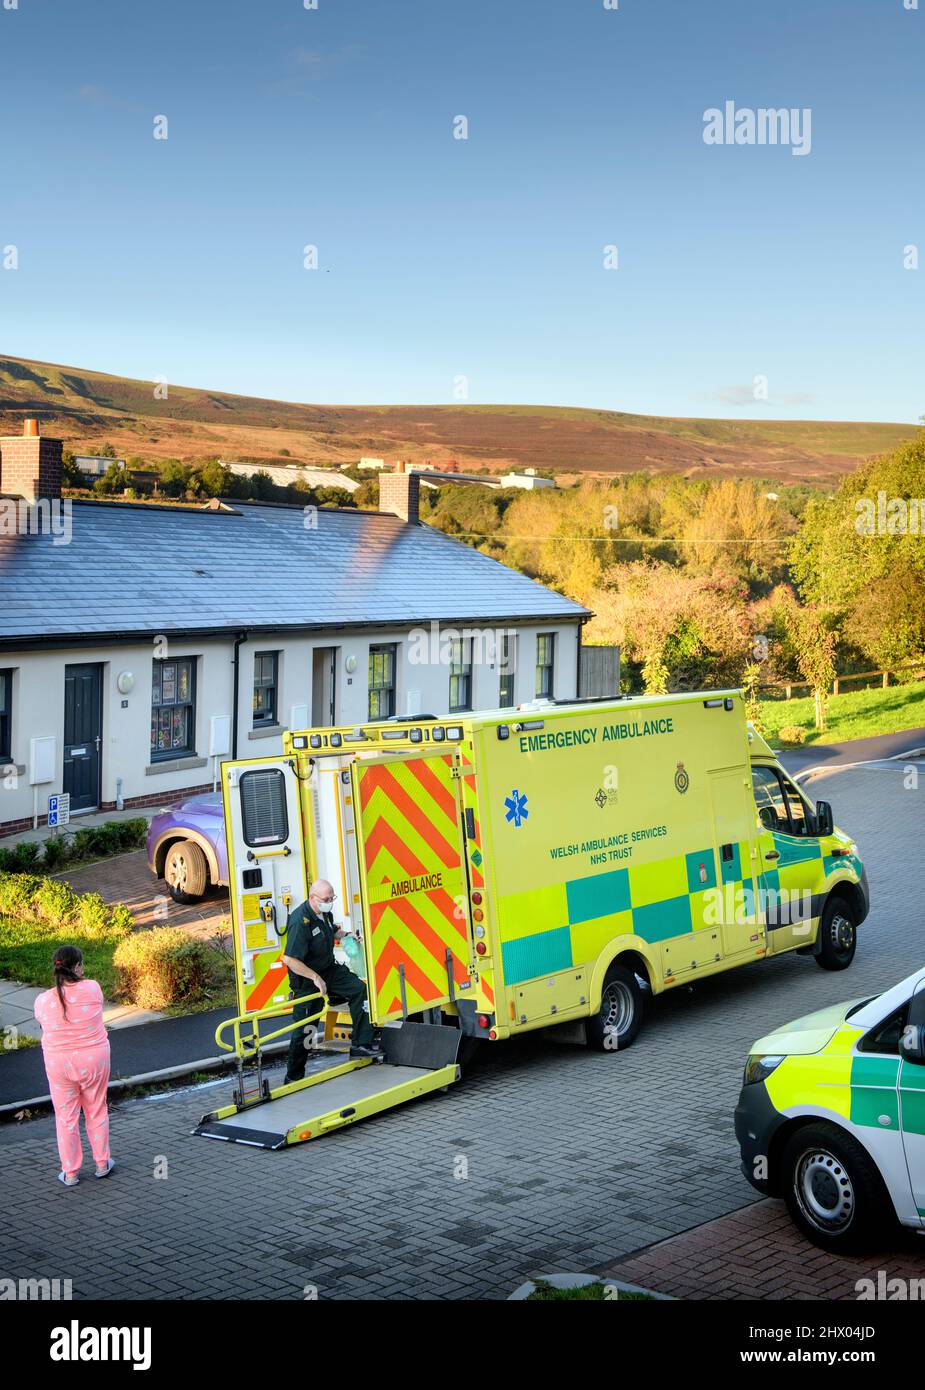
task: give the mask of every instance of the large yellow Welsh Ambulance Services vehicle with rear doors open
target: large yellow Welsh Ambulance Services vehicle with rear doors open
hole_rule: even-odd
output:
[[[478,1038],[561,1024],[620,1051],[648,998],[721,970],[787,951],[844,969],[868,912],[857,845],[740,691],[291,731],[221,771],[239,1015],[220,1042],[259,1063],[293,1027],[266,1030],[292,1008],[288,916],[323,877],[385,1063],[325,1054],[284,1095],[242,1080],[211,1138],[314,1138],[451,1084]]]

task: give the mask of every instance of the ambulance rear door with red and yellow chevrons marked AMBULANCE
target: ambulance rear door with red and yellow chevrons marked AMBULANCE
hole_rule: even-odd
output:
[[[472,986],[472,927],[453,753],[352,769],[374,1023],[453,1002]]]

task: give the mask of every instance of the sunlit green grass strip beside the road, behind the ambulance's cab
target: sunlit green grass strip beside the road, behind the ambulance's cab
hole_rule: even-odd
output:
[[[826,706],[823,733],[814,727],[814,719],[812,699],[761,702],[761,720],[771,742],[779,741],[782,728],[796,724],[805,728],[807,744],[840,744],[848,738],[874,738],[876,734],[925,727],[925,681],[833,695]]]

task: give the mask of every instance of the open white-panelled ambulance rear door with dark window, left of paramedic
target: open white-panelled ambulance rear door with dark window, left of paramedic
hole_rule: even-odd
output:
[[[223,763],[239,1013],[284,1004],[291,908],[307,897],[299,781],[287,758]]]

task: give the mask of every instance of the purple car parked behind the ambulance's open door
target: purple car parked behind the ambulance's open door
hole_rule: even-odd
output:
[[[174,902],[199,902],[210,884],[228,884],[225,817],[220,792],[191,796],[161,810],[147,830],[147,863]]]

